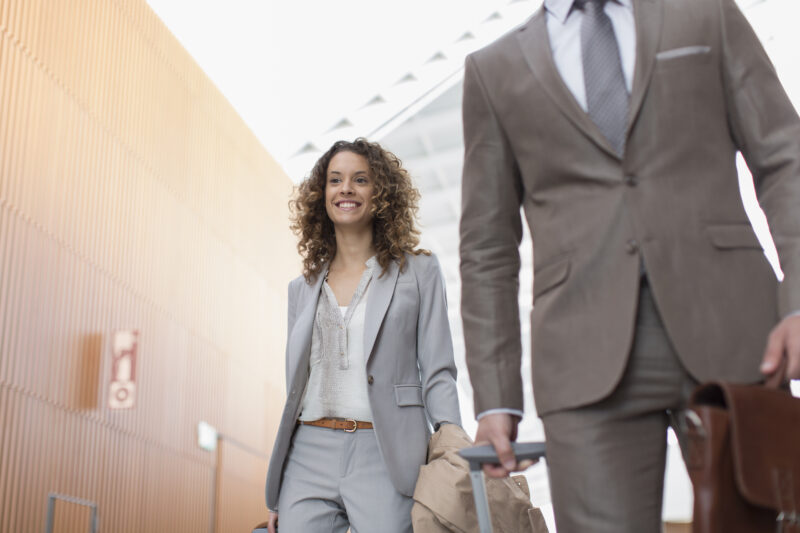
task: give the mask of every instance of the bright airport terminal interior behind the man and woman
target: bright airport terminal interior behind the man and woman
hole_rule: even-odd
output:
[[[800,3],[738,4],[797,107]],[[379,141],[421,192],[474,435],[459,315],[464,59],[540,6],[0,0],[0,533],[266,520],[286,286],[301,267],[288,200],[339,139]],[[744,164],[740,186],[779,275]],[[527,317],[527,233],[521,253]],[[541,440],[527,322],[519,438]],[[689,531],[674,435],[668,449],[664,521]],[[545,463],[526,476],[555,531]]]

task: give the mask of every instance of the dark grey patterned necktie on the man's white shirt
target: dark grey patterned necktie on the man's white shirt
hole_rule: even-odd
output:
[[[581,56],[589,116],[620,156],[625,151],[628,89],[606,0],[575,0],[583,10]]]

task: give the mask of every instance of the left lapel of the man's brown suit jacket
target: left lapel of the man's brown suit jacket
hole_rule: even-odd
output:
[[[558,72],[553,52],[550,49],[550,37],[547,34],[547,20],[544,7],[517,32],[517,42],[522,48],[525,61],[533,71],[533,75],[541,82],[545,92],[555,104],[586,136],[600,148],[619,159],[600,129],[589,115],[581,108],[572,92],[564,83]]]

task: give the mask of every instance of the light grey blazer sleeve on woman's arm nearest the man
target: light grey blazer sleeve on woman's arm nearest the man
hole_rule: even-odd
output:
[[[435,256],[420,257],[425,267],[416,272],[419,283],[417,363],[428,418],[434,428],[442,422],[461,425],[456,386],[453,338],[447,318],[447,296]]]

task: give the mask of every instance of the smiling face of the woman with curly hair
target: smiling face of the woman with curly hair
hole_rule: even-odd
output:
[[[325,181],[325,210],[334,226],[356,228],[372,223],[375,190],[367,159],[353,152],[331,158]]]

